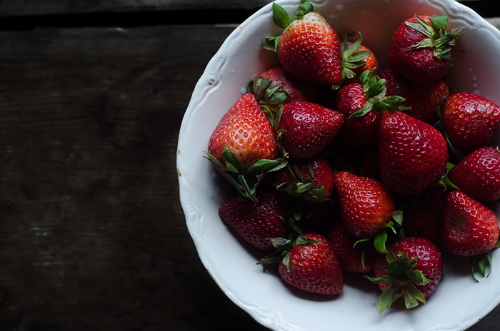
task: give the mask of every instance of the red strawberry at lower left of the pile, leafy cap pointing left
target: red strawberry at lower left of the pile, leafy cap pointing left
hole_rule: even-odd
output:
[[[278,261],[282,280],[291,287],[320,295],[338,295],[344,288],[344,275],[329,241],[318,233],[304,233],[295,240],[274,238],[279,253],[259,263]]]

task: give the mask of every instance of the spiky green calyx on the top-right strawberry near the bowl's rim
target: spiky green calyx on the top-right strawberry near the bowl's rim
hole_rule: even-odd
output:
[[[431,48],[434,50],[434,56],[441,60],[451,61],[451,49],[455,46],[456,38],[461,34],[461,28],[446,31],[448,26],[448,16],[432,16],[429,18],[431,24],[419,16],[415,16],[418,22],[405,21],[411,29],[419,31],[427,38],[419,43],[408,47],[407,49]]]

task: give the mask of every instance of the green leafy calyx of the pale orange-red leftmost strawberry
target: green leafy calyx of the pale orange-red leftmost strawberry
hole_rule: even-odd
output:
[[[261,159],[256,161],[249,168],[244,168],[238,158],[227,147],[222,151],[225,164],[222,164],[210,153],[204,156],[212,164],[219,168],[224,178],[236,188],[237,193],[243,197],[256,201],[256,191],[265,173],[271,173],[286,166],[287,162],[283,158],[274,160]]]

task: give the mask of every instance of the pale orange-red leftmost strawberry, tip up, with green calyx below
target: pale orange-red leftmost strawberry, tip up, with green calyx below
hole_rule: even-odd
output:
[[[256,200],[262,175],[286,165],[278,156],[274,128],[251,93],[245,93],[224,113],[206,153],[237,192],[251,200]]]

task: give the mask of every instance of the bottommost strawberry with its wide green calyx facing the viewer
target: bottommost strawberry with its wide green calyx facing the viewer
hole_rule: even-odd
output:
[[[409,237],[392,243],[386,257],[374,263],[376,277],[369,277],[383,291],[377,302],[382,314],[387,307],[404,297],[410,309],[425,303],[443,277],[443,257],[431,240]]]

